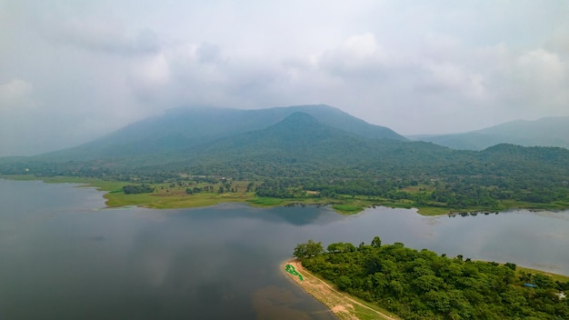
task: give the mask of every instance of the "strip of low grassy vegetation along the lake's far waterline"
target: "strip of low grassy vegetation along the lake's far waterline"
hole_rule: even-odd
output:
[[[371,195],[328,195],[319,191],[295,190],[286,196],[265,196],[266,182],[232,181],[231,179],[204,176],[185,177],[165,183],[143,183],[103,180],[77,176],[3,175],[16,180],[43,180],[47,183],[76,183],[105,191],[106,205],[111,207],[139,205],[155,209],[201,207],[226,202],[244,202],[249,205],[270,207],[279,205],[331,205],[338,213],[355,214],[372,206],[417,208],[421,215],[445,215],[461,212],[501,211],[509,208],[564,209],[564,201],[532,203],[521,200],[498,200],[493,205],[449,206],[442,203],[425,203],[422,197],[433,197],[435,188],[416,185],[403,188],[401,199]],[[295,193],[295,194],[294,194]]]

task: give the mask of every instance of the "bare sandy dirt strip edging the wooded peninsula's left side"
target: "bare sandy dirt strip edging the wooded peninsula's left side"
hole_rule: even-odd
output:
[[[316,300],[320,301],[324,305],[330,308],[334,315],[338,316],[340,319],[349,319],[349,320],[357,320],[359,319],[354,314],[354,305],[358,305],[367,309],[372,315],[377,315],[378,319],[396,319],[396,317],[392,315],[385,315],[373,308],[370,308],[367,305],[361,304],[354,300],[353,298],[344,295],[337,290],[335,290],[332,286],[326,284],[320,278],[312,275],[310,272],[306,271],[303,266],[296,261],[288,261],[284,263],[284,265],[293,265],[296,272],[300,273],[303,276],[303,281],[296,275],[289,275],[296,284],[303,287],[304,291],[309,295],[314,296]],[[283,265],[283,270],[284,270]]]

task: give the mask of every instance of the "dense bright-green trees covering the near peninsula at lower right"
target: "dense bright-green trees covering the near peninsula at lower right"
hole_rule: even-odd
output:
[[[569,319],[569,282],[516,272],[512,263],[473,261],[382,245],[324,248],[310,240],[294,256],[316,275],[404,319]]]

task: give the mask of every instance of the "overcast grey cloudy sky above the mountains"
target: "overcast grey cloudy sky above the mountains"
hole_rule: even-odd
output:
[[[0,0],[0,156],[180,106],[325,104],[402,135],[569,115],[569,2]]]

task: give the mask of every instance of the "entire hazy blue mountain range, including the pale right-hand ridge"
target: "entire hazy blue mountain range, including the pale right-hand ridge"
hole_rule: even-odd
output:
[[[500,144],[569,147],[569,117],[514,121],[471,133],[414,136],[371,125],[328,105],[258,110],[189,107],[147,118],[85,145],[44,155],[0,159],[1,163],[75,163],[75,168],[146,168],[160,171],[215,164],[303,163],[314,167],[450,165],[484,156],[471,151]],[[84,164],[84,165],[80,165]],[[69,165],[68,165],[69,166]],[[237,169],[235,169],[237,170]],[[239,169],[241,170],[241,169]],[[237,171],[239,171],[237,170]],[[247,169],[248,170],[248,169]],[[251,171],[251,170],[249,170]]]

